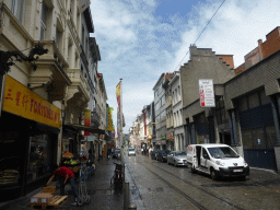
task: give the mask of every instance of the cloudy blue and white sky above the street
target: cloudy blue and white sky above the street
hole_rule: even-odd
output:
[[[122,103],[128,132],[143,106],[153,101],[153,86],[163,72],[187,62],[194,44],[222,0],[91,0],[94,33],[100,46],[108,105],[122,78]],[[280,25],[279,0],[226,0],[197,40],[198,48],[234,55],[234,66],[257,47],[257,40]]]

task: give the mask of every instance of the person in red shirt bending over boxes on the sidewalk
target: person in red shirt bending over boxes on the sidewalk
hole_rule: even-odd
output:
[[[59,180],[60,195],[63,196],[66,183],[68,179],[70,179],[70,185],[71,185],[72,191],[74,192],[74,203],[72,203],[72,205],[77,206],[78,200],[79,200],[79,195],[78,195],[77,188],[74,186],[74,173],[66,166],[59,167],[58,165],[54,165],[54,170],[55,170],[54,175],[48,179],[47,185],[49,185],[51,183],[51,180],[55,178],[55,176],[58,176],[60,179]]]

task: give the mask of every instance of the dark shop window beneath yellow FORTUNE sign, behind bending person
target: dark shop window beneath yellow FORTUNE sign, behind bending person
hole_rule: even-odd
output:
[[[52,152],[47,135],[31,137],[30,145],[27,182],[35,180],[50,173],[52,165]]]

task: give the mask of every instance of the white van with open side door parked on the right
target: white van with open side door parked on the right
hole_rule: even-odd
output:
[[[219,177],[249,175],[249,166],[230,145],[220,143],[190,144],[187,148],[187,163],[195,174],[197,171]]]

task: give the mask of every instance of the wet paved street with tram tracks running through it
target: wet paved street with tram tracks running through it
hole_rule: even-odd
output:
[[[137,209],[280,209],[280,176],[250,170],[245,182],[212,180],[151,158],[126,155],[126,174],[133,183],[131,200]]]

